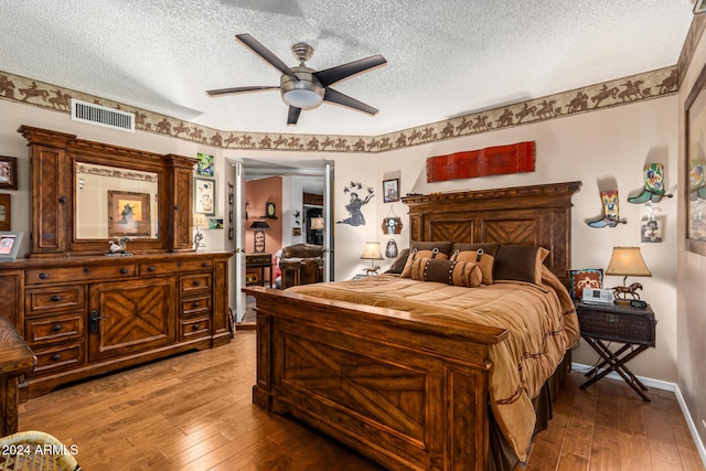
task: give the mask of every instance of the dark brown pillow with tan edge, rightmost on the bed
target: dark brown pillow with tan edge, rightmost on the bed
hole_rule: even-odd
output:
[[[542,263],[549,255],[544,247],[502,244],[495,256],[493,277],[498,280],[542,283]]]

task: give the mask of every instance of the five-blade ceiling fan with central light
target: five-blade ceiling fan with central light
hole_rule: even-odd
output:
[[[347,64],[338,65],[327,68],[325,71],[314,71],[306,66],[304,62],[309,61],[313,55],[313,47],[306,43],[297,43],[291,46],[291,52],[299,61],[299,65],[288,67],[271,51],[260,44],[249,34],[236,34],[235,36],[243,45],[260,56],[265,62],[270,64],[282,73],[279,87],[275,86],[252,86],[252,87],[233,87],[221,88],[215,90],[206,90],[211,96],[261,92],[269,89],[279,89],[282,100],[289,105],[289,115],[287,117],[288,125],[297,125],[299,114],[302,109],[313,109],[321,105],[322,101],[335,103],[349,108],[357,109],[368,115],[377,114],[378,109],[370,105],[359,101],[347,95],[331,88],[344,78],[366,72],[371,68],[387,64],[382,55],[374,55],[360,61],[350,62]]]

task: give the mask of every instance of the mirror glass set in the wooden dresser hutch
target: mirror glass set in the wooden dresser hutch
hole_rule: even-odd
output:
[[[159,238],[159,174],[74,164],[76,239]]]

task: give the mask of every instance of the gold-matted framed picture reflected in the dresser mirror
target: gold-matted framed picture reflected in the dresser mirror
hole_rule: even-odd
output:
[[[108,237],[151,235],[150,194],[108,190]]]

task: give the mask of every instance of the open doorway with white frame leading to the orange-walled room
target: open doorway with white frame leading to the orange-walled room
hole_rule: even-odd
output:
[[[234,296],[231,297],[231,308],[236,312],[239,328],[246,329],[254,327],[255,304],[242,289],[252,285],[280,287],[278,253],[282,247],[300,243],[320,245],[323,253],[322,278],[324,281],[332,279],[333,164],[324,160],[240,159],[234,165],[242,172],[238,181],[243,185],[243,201],[236,205],[242,234],[236,237],[240,243],[234,250],[232,264],[231,289]],[[248,195],[250,186],[259,186],[257,195]],[[256,231],[252,227],[264,227],[263,222],[270,228],[257,234],[264,242],[257,245],[254,240]],[[268,265],[268,268],[255,267],[253,260]]]

